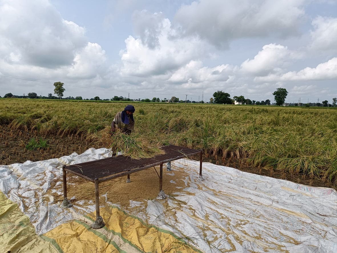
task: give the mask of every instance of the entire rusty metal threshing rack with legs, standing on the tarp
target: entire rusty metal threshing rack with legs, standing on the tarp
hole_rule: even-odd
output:
[[[130,174],[145,170],[157,165],[160,165],[159,172],[159,195],[158,199],[164,199],[165,193],[162,189],[163,183],[163,164],[169,163],[181,158],[187,158],[200,154],[200,170],[199,179],[204,180],[202,176],[202,164],[203,164],[203,151],[201,149],[192,149],[186,147],[180,147],[175,145],[167,145],[161,147],[164,150],[164,154],[159,154],[153,158],[144,159],[132,159],[126,156],[115,156],[109,158],[103,158],[86,163],[79,163],[74,165],[63,165],[63,196],[64,200],[61,204],[62,207],[68,208],[71,206],[67,199],[67,178],[66,173],[72,173],[80,176],[95,184],[95,197],[96,197],[96,221],[91,225],[92,228],[98,229],[105,224],[103,218],[99,214],[99,183],[105,182],[117,177],[127,175],[127,182],[130,182]],[[158,173],[157,173],[158,174]]]

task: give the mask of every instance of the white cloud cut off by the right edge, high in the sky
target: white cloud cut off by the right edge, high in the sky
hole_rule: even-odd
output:
[[[337,51],[337,18],[317,17],[312,21],[314,30],[311,49]]]

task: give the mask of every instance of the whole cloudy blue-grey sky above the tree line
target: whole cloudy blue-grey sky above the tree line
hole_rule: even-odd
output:
[[[337,97],[337,0],[0,0],[0,95]]]

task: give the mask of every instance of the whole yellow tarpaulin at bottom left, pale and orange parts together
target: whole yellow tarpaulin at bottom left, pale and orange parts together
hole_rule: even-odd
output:
[[[0,192],[0,252],[200,252],[170,231],[146,224],[113,207],[101,208],[106,226],[90,227],[95,212],[84,220],[74,220],[44,235],[35,233],[29,217],[16,203]]]

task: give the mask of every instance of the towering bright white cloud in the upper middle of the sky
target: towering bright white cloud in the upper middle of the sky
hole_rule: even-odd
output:
[[[142,12],[150,15],[147,21],[156,21],[153,29],[145,22],[141,38],[129,36],[125,40],[126,49],[120,52],[123,66],[122,76],[157,76],[179,69],[192,59],[198,60],[209,51],[209,46],[197,37],[176,38],[176,33],[168,19],[157,13]],[[158,17],[160,18],[158,20]],[[160,29],[157,29],[160,27]],[[141,30],[141,27],[137,28]]]

